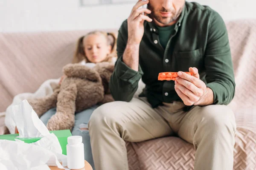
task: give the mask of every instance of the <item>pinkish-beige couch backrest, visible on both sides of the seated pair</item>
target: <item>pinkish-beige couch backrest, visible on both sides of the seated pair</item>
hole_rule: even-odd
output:
[[[256,108],[256,20],[226,25],[236,77],[230,106],[242,113]],[[87,32],[0,33],[0,112],[16,94],[35,92],[47,79],[60,77],[62,67],[72,60],[77,39]]]

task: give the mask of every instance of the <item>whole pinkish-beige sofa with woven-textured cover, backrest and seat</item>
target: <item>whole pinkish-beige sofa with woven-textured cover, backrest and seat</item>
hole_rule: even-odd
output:
[[[226,21],[236,78],[228,105],[236,116],[234,170],[256,169],[256,20]],[[76,40],[90,30],[0,33],[0,134],[6,108],[15,95],[33,93],[47,79],[58,79],[72,61]],[[117,33],[116,30],[105,30]],[[134,97],[142,91],[140,81]],[[209,127],[211,128],[211,127]],[[14,132],[11,132],[14,133]],[[195,149],[177,136],[127,142],[130,170],[192,170]]]

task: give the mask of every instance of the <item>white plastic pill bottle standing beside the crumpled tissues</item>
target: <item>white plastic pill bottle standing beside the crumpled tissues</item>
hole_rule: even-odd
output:
[[[73,170],[84,167],[82,136],[69,136],[67,138],[67,167]]]

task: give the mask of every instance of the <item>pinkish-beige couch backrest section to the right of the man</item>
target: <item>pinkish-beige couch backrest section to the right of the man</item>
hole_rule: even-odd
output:
[[[256,116],[256,19],[226,25],[236,79],[236,93],[229,106],[236,116],[248,112]]]

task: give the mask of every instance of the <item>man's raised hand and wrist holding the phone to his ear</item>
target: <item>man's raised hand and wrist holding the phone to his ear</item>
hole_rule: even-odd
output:
[[[150,14],[151,11],[147,8],[140,8],[145,4],[148,4],[147,1],[139,0],[136,5],[132,8],[131,14],[128,17],[128,45],[139,45],[142,40],[144,34],[144,21],[147,20],[151,22],[152,19],[146,16],[146,14]],[[144,12],[144,15],[142,14]]]

